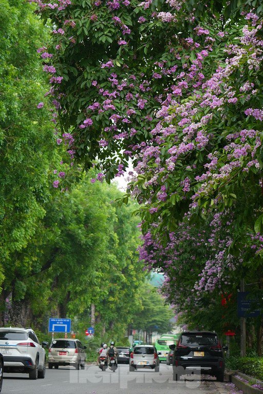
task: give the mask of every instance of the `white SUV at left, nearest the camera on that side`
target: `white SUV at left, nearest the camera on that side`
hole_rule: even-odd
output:
[[[0,353],[5,372],[29,373],[29,379],[45,378],[47,342],[39,343],[31,328],[1,327]]]

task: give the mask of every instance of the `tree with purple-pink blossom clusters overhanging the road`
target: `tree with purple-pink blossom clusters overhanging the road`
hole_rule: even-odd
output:
[[[154,243],[180,240],[180,226],[198,234],[219,223],[215,250],[193,264],[193,300],[200,291],[211,297],[205,284],[217,267],[217,287],[231,286],[225,272],[244,278],[252,268],[262,288],[260,2],[37,3],[53,28],[41,52],[58,143],[73,158],[55,186],[96,158],[97,178],[109,181],[131,157],[136,175],[123,201],[132,194],[141,203],[142,231]],[[170,278],[165,259],[158,265]],[[230,275],[234,287],[239,275]]]

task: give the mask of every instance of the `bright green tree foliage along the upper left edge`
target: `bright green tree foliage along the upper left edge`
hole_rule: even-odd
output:
[[[33,260],[18,255],[45,215],[55,142],[48,110],[37,108],[45,82],[36,49],[47,29],[24,1],[1,0],[0,19],[0,281],[4,298],[15,289],[19,299]]]

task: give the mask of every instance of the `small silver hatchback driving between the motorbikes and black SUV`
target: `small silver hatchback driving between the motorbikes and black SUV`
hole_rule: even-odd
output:
[[[159,357],[153,345],[137,345],[130,353],[129,370],[135,371],[137,368],[152,368],[159,372]]]

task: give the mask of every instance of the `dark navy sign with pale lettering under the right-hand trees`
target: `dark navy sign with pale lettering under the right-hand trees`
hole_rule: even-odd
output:
[[[248,291],[237,293],[237,316],[239,318],[255,318],[259,316],[259,300]]]

